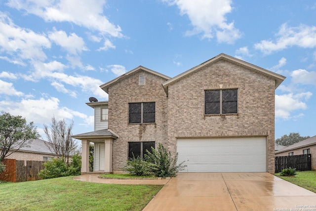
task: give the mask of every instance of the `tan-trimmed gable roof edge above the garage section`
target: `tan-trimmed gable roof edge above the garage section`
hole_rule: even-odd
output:
[[[258,71],[258,72],[260,72],[260,73],[262,73],[262,74],[264,74],[264,75],[267,75],[267,76],[269,76],[269,77],[273,77],[273,78],[276,80],[276,86],[275,86],[276,88],[277,88],[277,86],[278,86],[279,84],[281,84],[281,83],[284,81],[284,79],[286,78],[286,77],[284,77],[284,76],[278,75],[278,74],[276,74],[276,73],[274,73],[274,72],[271,72],[271,71],[269,71],[269,70],[263,69],[263,68],[258,67],[258,66],[256,66],[256,65],[250,64],[250,63],[248,63],[248,62],[242,61],[242,60],[237,59],[237,58],[235,58],[235,57],[232,57],[232,56],[226,55],[226,54],[224,54],[224,53],[221,53],[221,54],[219,54],[219,55],[217,55],[217,56],[215,56],[215,57],[213,57],[213,58],[211,58],[211,59],[209,59],[209,60],[203,62],[202,64],[199,64],[199,65],[197,65],[196,67],[191,68],[190,70],[188,70],[188,71],[186,71],[186,72],[184,72],[184,73],[181,73],[181,74],[179,74],[178,76],[173,77],[172,79],[170,79],[170,80],[168,80],[168,81],[162,83],[162,86],[163,86],[163,88],[164,88],[166,94],[168,95],[168,85],[169,85],[169,84],[172,84],[172,83],[174,83],[174,82],[176,82],[176,81],[179,81],[179,80],[181,80],[181,78],[183,78],[183,77],[185,77],[185,76],[187,76],[187,75],[189,75],[189,74],[191,74],[191,73],[197,71],[199,68],[201,68],[201,67],[203,67],[203,66],[205,66],[205,65],[214,63],[215,61],[218,61],[218,60],[220,60],[220,59],[225,59],[225,60],[228,60],[228,61],[231,61],[231,62],[236,62],[236,63],[238,63],[238,64],[241,65],[241,66],[245,66],[245,67],[251,68],[251,69],[253,69],[254,71]]]

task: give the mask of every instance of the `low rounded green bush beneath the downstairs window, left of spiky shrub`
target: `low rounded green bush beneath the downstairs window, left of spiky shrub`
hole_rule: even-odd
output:
[[[151,169],[153,168],[153,164],[148,163],[142,160],[139,156],[135,158],[133,154],[133,158],[129,158],[127,164],[122,170],[128,171],[132,175],[143,176],[143,175],[152,175]]]

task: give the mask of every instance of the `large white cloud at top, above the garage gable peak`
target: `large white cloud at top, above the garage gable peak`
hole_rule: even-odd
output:
[[[211,39],[216,35],[218,42],[234,43],[241,37],[234,22],[228,23],[226,15],[232,12],[232,0],[162,0],[176,4],[181,15],[188,15],[194,26],[187,35],[202,33],[202,38]]]

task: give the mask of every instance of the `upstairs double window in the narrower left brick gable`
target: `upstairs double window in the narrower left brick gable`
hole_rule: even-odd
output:
[[[129,103],[128,123],[155,123],[155,102]]]

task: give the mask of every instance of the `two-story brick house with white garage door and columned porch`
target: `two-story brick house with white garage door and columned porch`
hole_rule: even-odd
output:
[[[275,89],[285,77],[226,54],[170,78],[139,66],[100,87],[81,173],[120,172],[129,157],[162,143],[184,172],[270,172],[275,167]]]

